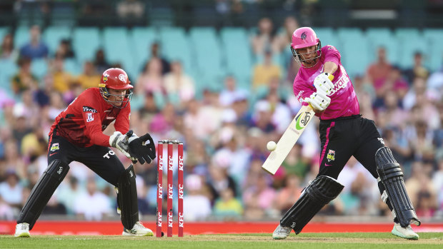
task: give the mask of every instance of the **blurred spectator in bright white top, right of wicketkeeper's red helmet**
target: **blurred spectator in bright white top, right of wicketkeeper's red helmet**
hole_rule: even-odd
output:
[[[171,72],[164,75],[164,88],[169,98],[179,98],[179,106],[191,100],[195,95],[194,80],[183,72],[180,61],[172,61]]]

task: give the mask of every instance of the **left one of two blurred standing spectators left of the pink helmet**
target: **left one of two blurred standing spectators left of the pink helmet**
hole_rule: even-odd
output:
[[[263,55],[265,51],[272,49],[272,41],[274,40],[273,25],[271,19],[267,17],[260,19],[258,33],[252,37],[252,51],[255,55]]]

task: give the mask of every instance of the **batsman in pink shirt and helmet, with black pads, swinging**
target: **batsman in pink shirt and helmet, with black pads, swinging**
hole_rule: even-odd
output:
[[[359,114],[359,102],[339,51],[331,45],[322,47],[309,27],[294,31],[291,50],[302,66],[294,80],[294,94],[303,105],[311,105],[320,118],[320,168],[272,237],[287,238],[292,230],[299,234],[324,205],[334,200],[344,187],[337,177],[354,156],[377,178],[382,200],[394,215],[392,234],[417,240],[419,235],[410,224],[420,225],[420,220],[404,188],[402,169],[384,146],[374,121]]]

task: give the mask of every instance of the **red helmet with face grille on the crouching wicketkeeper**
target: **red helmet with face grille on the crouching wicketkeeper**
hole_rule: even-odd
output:
[[[101,75],[99,88],[101,96],[103,96],[104,100],[108,103],[111,103],[112,106],[117,108],[124,108],[128,105],[129,101],[132,98],[131,89],[134,86],[131,86],[131,81],[129,81],[128,74],[121,68],[109,68],[103,72]],[[124,90],[126,89],[126,93],[123,95],[119,94],[111,94],[109,93],[108,88],[114,90]],[[123,96],[121,101],[110,101],[109,97],[115,96],[116,98]],[[126,103],[125,105],[116,105],[115,103]]]

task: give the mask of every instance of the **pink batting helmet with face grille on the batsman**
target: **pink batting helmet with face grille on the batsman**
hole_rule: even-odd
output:
[[[301,54],[297,52],[297,49],[306,48],[308,46],[317,46],[317,56],[315,56],[314,59],[317,59],[322,55],[322,43],[314,30],[309,27],[296,29],[292,34],[291,44],[291,51],[296,61],[304,62],[304,58],[302,58]]]

